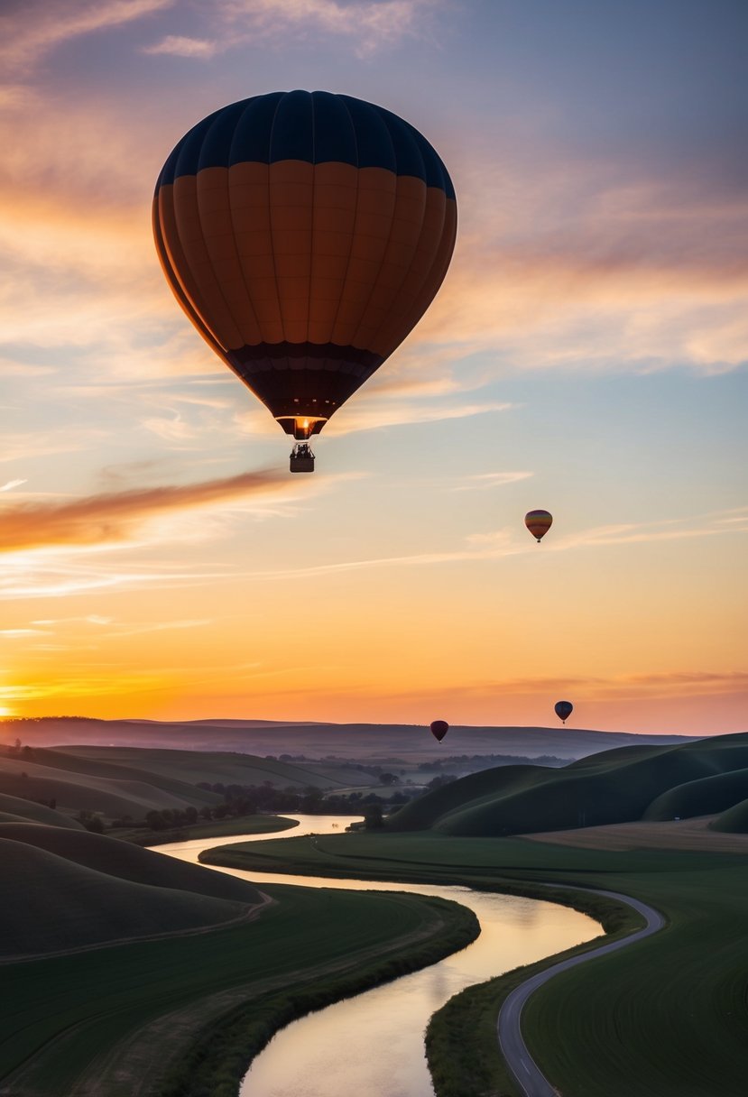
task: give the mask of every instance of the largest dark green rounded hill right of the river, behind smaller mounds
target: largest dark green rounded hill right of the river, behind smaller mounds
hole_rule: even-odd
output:
[[[621,747],[562,769],[501,767],[428,793],[387,827],[495,837],[627,823],[643,818],[653,802],[679,785],[747,767],[748,734],[675,747]]]

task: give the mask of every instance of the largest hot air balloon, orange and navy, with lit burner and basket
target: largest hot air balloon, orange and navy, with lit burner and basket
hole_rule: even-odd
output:
[[[272,92],[193,126],[167,159],[154,235],[167,280],[215,353],[309,439],[393,353],[454,249],[454,188],[396,114],[326,91]]]

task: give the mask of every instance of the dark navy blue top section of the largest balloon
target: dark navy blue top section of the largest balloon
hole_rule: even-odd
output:
[[[203,168],[276,160],[385,168],[455,196],[446,168],[418,129],[382,106],[328,91],[273,91],[215,111],[182,137],[156,190]]]

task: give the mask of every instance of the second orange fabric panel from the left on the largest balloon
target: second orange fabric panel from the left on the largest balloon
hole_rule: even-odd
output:
[[[224,347],[241,347],[243,344],[241,332],[226,305],[205,246],[197,206],[196,178],[181,176],[174,182],[173,193],[179,239],[200,295],[205,303],[205,308],[201,309],[203,319]]]

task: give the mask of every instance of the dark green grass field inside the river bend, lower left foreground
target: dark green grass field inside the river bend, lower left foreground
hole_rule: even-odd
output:
[[[0,1093],[234,1097],[291,1016],[433,962],[477,931],[440,900],[267,891],[280,902],[248,926],[5,965]]]

